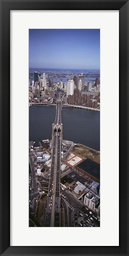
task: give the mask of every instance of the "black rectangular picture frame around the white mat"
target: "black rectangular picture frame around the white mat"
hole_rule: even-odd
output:
[[[128,29],[125,0],[11,1],[1,0],[1,255],[128,255]],[[120,14],[120,245],[118,247],[10,246],[10,11],[119,10]],[[5,90],[6,88],[6,90]],[[7,89],[8,88],[8,89]],[[5,157],[6,156],[6,157]],[[8,161],[7,161],[8,159]],[[5,185],[6,184],[6,185]],[[115,220],[114,220],[115,221]]]

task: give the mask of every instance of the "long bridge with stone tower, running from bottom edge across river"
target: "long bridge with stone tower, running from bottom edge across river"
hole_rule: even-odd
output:
[[[62,151],[62,102],[57,100],[56,118],[52,128],[52,154],[49,191],[46,209],[46,226],[61,225],[60,165]]]

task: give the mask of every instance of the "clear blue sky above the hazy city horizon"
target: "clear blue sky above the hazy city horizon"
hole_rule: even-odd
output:
[[[29,68],[100,69],[100,30],[30,29]]]

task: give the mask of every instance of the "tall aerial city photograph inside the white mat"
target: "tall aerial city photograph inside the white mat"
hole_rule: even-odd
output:
[[[100,31],[29,31],[29,227],[100,226]]]

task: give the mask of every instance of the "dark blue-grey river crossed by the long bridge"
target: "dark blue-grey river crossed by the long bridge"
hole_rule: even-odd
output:
[[[35,146],[43,139],[51,139],[56,107],[29,107],[29,140]],[[62,108],[63,139],[72,140],[100,150],[100,112],[78,108]]]

